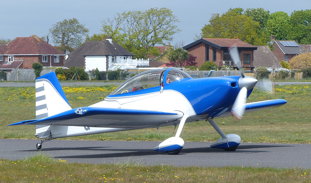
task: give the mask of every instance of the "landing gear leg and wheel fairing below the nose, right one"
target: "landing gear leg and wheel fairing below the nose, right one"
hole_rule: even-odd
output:
[[[235,151],[241,143],[241,137],[237,134],[225,135],[225,133],[218,127],[218,125],[215,123],[215,121],[211,117],[208,117],[207,121],[222,137],[218,139],[215,143],[210,145],[210,147],[222,148],[222,149],[225,149],[225,151]]]

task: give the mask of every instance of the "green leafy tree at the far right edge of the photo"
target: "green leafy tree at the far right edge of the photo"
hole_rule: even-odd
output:
[[[294,11],[291,14],[289,23],[291,31],[290,40],[300,44],[311,44],[311,10]]]

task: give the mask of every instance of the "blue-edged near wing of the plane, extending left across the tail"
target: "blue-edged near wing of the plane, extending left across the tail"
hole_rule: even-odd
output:
[[[11,125],[59,125],[105,128],[150,128],[178,120],[180,111],[162,112],[121,108],[82,107],[38,120],[27,120]],[[10,126],[11,126],[10,125]]]

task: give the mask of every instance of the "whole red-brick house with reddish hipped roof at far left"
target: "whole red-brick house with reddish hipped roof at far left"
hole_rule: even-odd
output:
[[[64,54],[35,35],[16,37],[9,43],[0,44],[0,70],[31,69],[39,62],[44,67],[64,65]]]

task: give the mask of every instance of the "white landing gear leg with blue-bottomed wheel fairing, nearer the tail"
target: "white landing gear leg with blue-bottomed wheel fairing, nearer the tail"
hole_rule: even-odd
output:
[[[179,137],[181,130],[183,129],[185,122],[188,118],[188,115],[184,115],[180,120],[177,132],[174,137],[168,138],[163,141],[161,144],[154,148],[155,151],[166,152],[170,155],[179,154],[180,150],[184,147],[185,142],[182,138]]]

